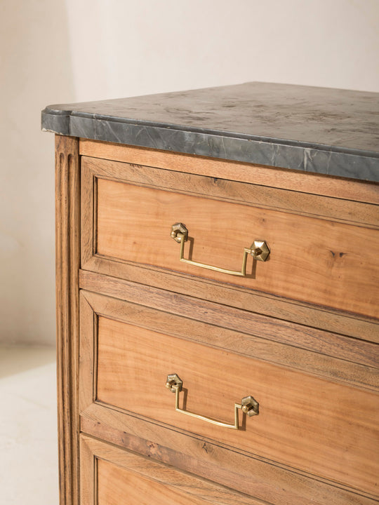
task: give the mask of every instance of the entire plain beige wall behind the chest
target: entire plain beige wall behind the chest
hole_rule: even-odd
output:
[[[2,0],[0,342],[53,343],[50,103],[245,81],[379,92],[378,0]]]

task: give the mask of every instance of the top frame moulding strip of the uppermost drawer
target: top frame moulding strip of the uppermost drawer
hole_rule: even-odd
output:
[[[205,177],[85,156],[81,160],[83,170],[93,177],[122,180],[179,194],[218,198],[247,206],[281,210],[296,215],[309,215],[318,219],[327,218],[337,222],[361,223],[368,227],[379,228],[378,202],[376,202],[377,205],[372,205],[359,201],[346,201],[341,198],[246,184],[220,177]]]

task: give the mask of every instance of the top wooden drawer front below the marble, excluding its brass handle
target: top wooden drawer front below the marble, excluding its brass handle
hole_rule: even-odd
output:
[[[86,157],[81,165],[84,269],[189,294],[201,280],[378,316],[378,206]],[[270,256],[248,255],[245,276],[180,262],[170,236],[177,222],[192,262],[241,271],[255,240]]]

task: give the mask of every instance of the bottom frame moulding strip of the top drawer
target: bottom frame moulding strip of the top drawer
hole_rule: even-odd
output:
[[[135,264],[127,264],[107,260],[98,255],[83,261],[83,271],[88,274],[114,277],[146,284],[153,288],[162,288],[171,292],[182,293],[189,297],[201,298],[218,304],[236,307],[238,309],[264,314],[265,316],[292,321],[300,325],[320,328],[328,332],[340,333],[357,339],[367,340],[379,344],[379,321],[364,316],[352,315],[346,312],[333,311],[325,307],[311,306],[304,302],[276,297],[268,293],[260,293],[244,288],[232,288],[227,285],[206,282],[204,279],[191,277],[191,282],[183,286],[183,278],[177,272],[159,271]]]

